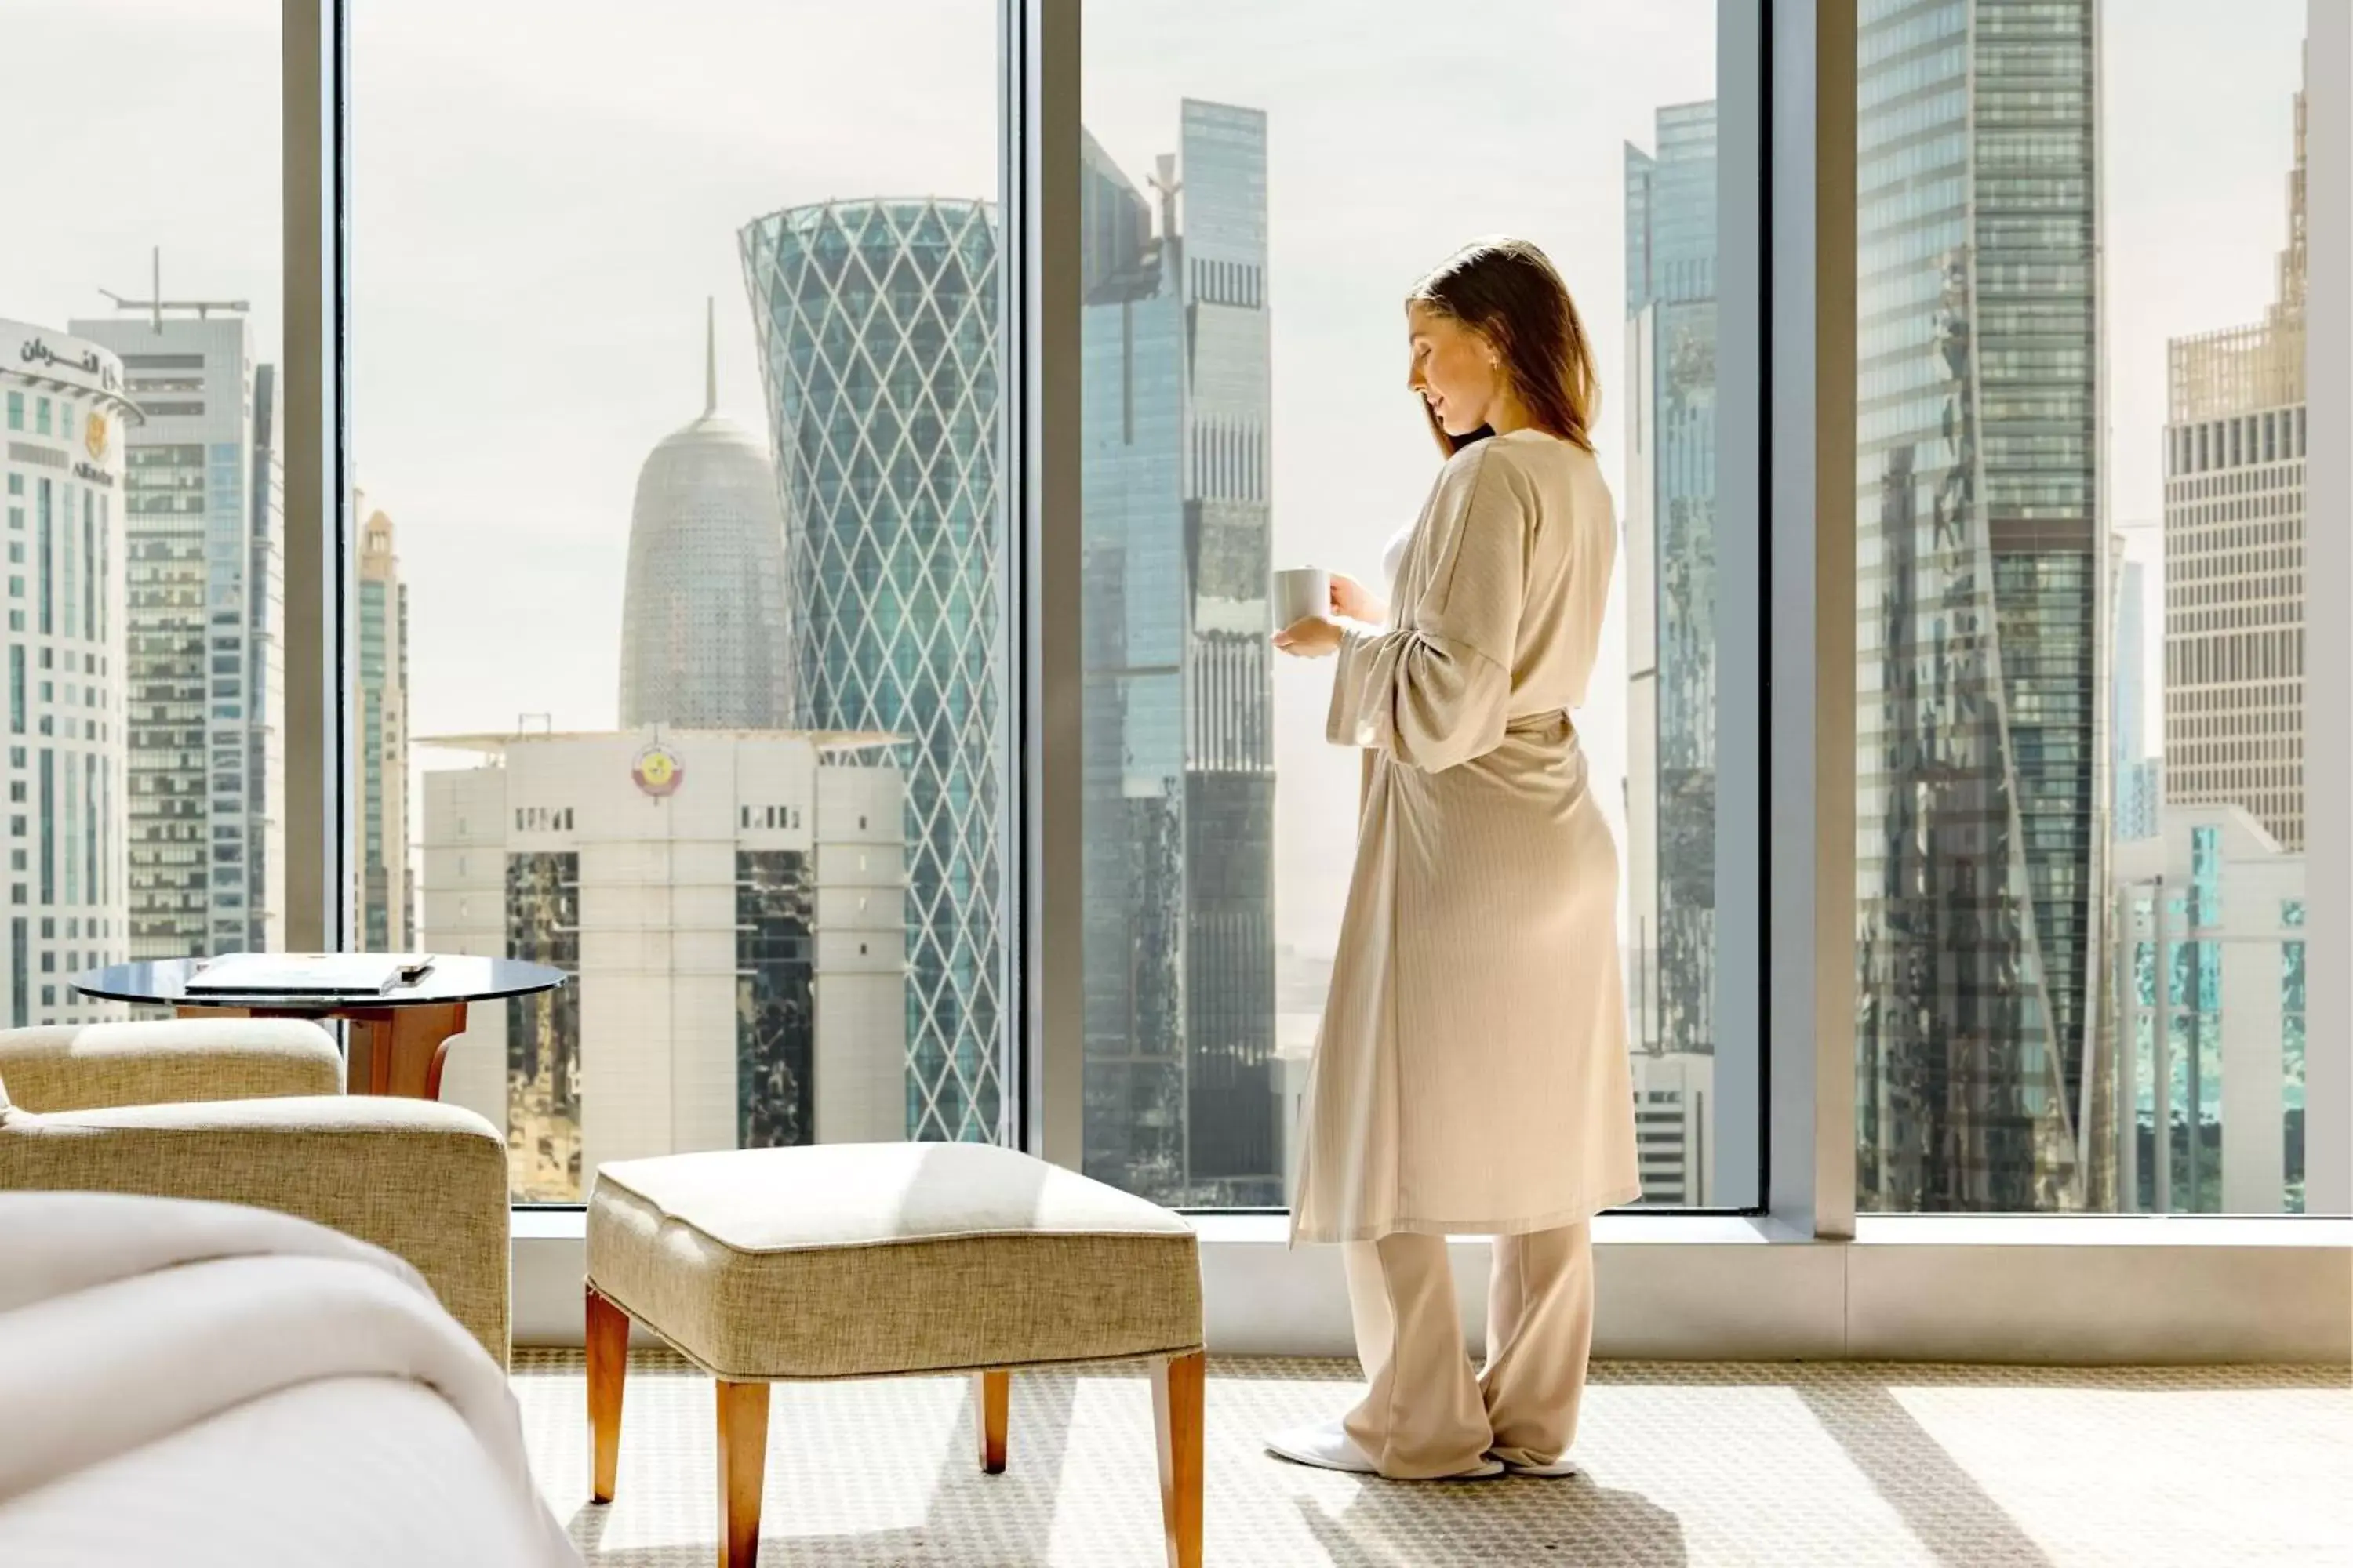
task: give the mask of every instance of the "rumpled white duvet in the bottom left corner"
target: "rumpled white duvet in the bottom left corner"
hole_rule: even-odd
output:
[[[259,1208],[0,1194],[0,1563],[579,1554],[504,1371],[374,1246]]]

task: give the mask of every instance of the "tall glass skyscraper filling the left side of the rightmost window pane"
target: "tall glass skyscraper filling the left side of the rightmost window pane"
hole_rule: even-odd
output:
[[[1864,0],[1857,1204],[2071,1208],[2099,1095],[2097,0]]]

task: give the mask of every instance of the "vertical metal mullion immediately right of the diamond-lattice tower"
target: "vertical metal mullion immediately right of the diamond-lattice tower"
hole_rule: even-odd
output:
[[[1007,1140],[1080,1166],[1080,0],[1000,0]]]

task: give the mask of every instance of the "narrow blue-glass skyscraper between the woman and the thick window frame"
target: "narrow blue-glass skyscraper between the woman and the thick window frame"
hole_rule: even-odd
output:
[[[1715,103],[1626,148],[1628,997],[1645,1201],[1706,1201],[1715,1053]],[[1673,1152],[1673,1178],[1657,1161]]]

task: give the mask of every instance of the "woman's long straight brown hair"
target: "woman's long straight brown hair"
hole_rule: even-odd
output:
[[[1487,339],[1537,428],[1593,451],[1602,397],[1593,341],[1551,256],[1527,240],[1473,240],[1431,268],[1405,303],[1449,315]],[[1421,411],[1440,451],[1454,454],[1492,435],[1480,428],[1454,437],[1428,402]]]

